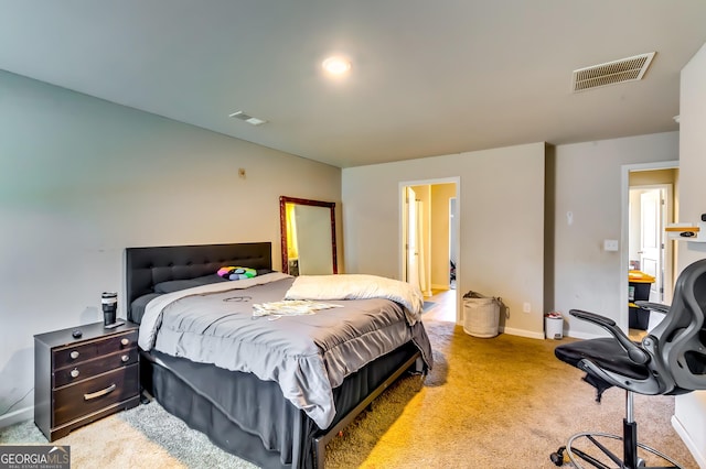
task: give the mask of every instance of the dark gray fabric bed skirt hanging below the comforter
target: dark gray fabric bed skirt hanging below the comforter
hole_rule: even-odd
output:
[[[206,434],[225,451],[264,468],[309,469],[322,467],[322,446],[371,397],[415,368],[418,357],[418,348],[408,342],[347,377],[333,390],[336,416],[324,430],[287,401],[277,383],[250,373],[153,350],[142,352],[141,375],[145,390],[169,413]]]

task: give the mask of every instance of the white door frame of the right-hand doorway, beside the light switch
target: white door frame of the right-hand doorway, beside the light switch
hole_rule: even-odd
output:
[[[651,170],[673,170],[678,168],[678,160],[659,161],[653,163],[623,164],[620,167],[620,210],[622,217],[620,219],[620,304],[617,305],[620,312],[618,316],[618,326],[628,331],[628,270],[629,270],[629,227],[630,227],[630,173],[633,171],[651,171]],[[674,192],[673,192],[674,195]],[[678,217],[677,212],[673,216]]]

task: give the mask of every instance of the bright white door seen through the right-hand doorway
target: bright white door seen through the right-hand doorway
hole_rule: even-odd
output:
[[[662,303],[662,219],[663,197],[661,189],[648,189],[640,194],[640,270],[655,279],[650,288],[650,301]]]

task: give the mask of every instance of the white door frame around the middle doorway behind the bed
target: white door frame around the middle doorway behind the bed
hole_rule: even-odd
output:
[[[416,181],[402,181],[398,183],[397,187],[397,197],[398,197],[398,226],[397,226],[397,262],[398,262],[398,272],[399,279],[405,279],[405,194],[406,188],[409,186],[432,186],[436,184],[456,184],[456,253],[458,255],[457,264],[456,264],[456,323],[458,324],[460,320],[460,308],[462,306],[462,293],[461,293],[461,279],[462,279],[462,252],[461,252],[461,177],[452,176],[452,177],[440,177],[434,179],[416,179]]]

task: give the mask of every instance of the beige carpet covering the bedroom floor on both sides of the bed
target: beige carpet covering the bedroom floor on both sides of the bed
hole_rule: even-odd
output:
[[[597,404],[582,373],[554,358],[554,347],[563,341],[507,335],[480,339],[434,320],[434,314],[426,316],[434,371],[391,386],[372,412],[331,441],[328,468],[555,468],[549,454],[569,435],[620,432],[624,393],[609,390]],[[673,405],[673,397],[637,396],[639,439],[684,468],[697,469],[670,423]],[[148,419],[154,425],[141,424]],[[0,443],[41,443],[38,434],[28,422],[0,430]],[[56,443],[71,445],[74,468],[253,467],[218,450],[156,403]]]

